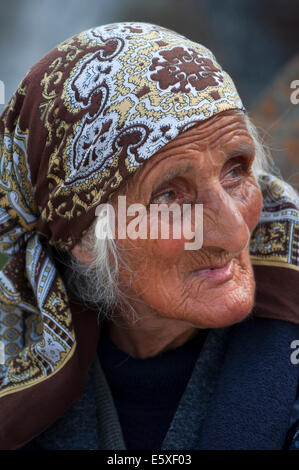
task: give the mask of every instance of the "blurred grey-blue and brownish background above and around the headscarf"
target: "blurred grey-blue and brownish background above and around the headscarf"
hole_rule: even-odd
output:
[[[299,189],[299,0],[0,0],[0,5],[5,103],[27,70],[73,34],[117,21],[156,23],[214,52],[283,178]],[[297,104],[290,99],[294,80]]]

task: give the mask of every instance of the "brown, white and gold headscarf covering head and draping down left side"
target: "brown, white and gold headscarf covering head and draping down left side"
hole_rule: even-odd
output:
[[[243,105],[208,49],[143,23],[73,36],[21,82],[0,122],[0,447],[62,414],[94,353],[49,245],[70,250],[146,160],[231,109]]]

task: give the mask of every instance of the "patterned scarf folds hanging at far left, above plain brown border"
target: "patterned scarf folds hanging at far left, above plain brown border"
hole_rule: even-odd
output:
[[[18,126],[13,142],[8,135],[1,142],[0,250],[11,258],[0,272],[0,397],[58,371],[75,346],[62,280],[33,230],[37,216],[26,145]],[[19,225],[10,216],[14,212]]]

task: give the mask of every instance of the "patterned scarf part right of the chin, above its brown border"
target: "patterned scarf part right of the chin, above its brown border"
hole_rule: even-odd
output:
[[[299,270],[299,196],[273,175],[261,175],[259,183],[263,211],[251,236],[251,261]]]

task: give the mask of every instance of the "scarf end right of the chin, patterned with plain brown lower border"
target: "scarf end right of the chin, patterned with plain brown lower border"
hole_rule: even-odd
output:
[[[254,315],[299,323],[299,197],[275,175],[262,173],[263,210],[250,240],[256,280]]]

